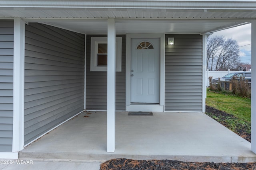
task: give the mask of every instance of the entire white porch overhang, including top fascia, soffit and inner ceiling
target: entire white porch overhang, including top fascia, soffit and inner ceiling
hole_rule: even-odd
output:
[[[211,33],[256,19],[256,1],[246,0],[0,0],[0,19],[22,18],[84,34]]]

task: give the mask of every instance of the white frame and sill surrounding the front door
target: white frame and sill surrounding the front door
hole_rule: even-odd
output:
[[[160,38],[160,104],[131,104],[131,39],[132,38]],[[126,35],[126,111],[164,111],[164,60],[165,60],[164,34],[127,34]],[[146,107],[145,107],[146,106]]]

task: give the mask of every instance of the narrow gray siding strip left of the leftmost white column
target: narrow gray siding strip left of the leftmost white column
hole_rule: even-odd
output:
[[[14,21],[0,20],[0,152],[12,152]]]

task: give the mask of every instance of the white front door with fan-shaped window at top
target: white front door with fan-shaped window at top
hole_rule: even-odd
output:
[[[131,39],[131,103],[160,102],[160,39]]]

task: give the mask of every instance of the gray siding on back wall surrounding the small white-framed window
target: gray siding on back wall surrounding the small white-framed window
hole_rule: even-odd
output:
[[[122,72],[116,72],[116,110],[125,110],[125,35],[122,37]],[[87,35],[86,37],[86,109],[107,109],[107,72],[90,71],[91,37],[106,35]]]

